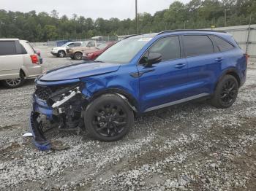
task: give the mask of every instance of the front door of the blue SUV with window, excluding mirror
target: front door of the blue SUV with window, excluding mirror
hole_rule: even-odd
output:
[[[143,66],[148,53],[159,53],[162,61],[151,67]],[[140,60],[141,111],[158,109],[187,97],[187,63],[183,58],[179,36],[159,39]]]

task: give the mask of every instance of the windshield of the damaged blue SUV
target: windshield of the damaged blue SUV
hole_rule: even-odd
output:
[[[151,40],[148,37],[133,37],[124,39],[114,44],[108,50],[99,55],[96,62],[105,63],[129,63],[132,58]]]

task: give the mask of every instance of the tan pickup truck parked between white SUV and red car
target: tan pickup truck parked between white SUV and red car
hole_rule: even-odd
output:
[[[71,59],[82,60],[83,52],[87,50],[94,50],[98,46],[96,41],[86,41],[80,47],[69,47],[67,53]]]

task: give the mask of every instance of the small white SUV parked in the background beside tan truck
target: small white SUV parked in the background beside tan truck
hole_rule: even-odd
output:
[[[61,47],[53,47],[50,51],[52,55],[55,55],[59,58],[64,58],[67,55],[67,49],[71,47],[80,47],[83,45],[83,42],[67,42],[63,44]]]

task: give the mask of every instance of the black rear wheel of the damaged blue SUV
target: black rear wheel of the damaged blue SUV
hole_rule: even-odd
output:
[[[214,96],[211,98],[211,105],[219,109],[226,109],[234,104],[238,95],[238,81],[231,75],[225,75],[220,79]]]

